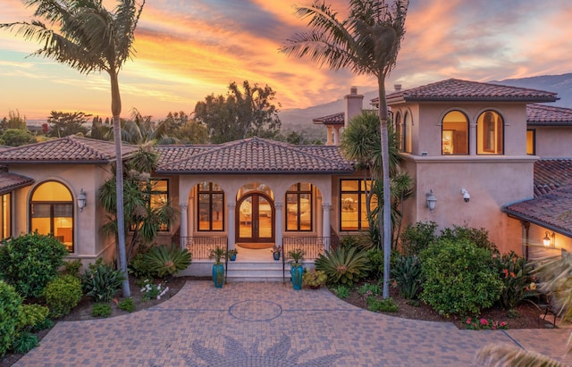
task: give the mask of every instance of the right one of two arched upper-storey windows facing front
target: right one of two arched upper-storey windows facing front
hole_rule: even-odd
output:
[[[485,111],[476,121],[476,154],[504,154],[504,121],[499,113]]]

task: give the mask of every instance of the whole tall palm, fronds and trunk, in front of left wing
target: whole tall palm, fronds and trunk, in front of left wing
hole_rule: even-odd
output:
[[[42,47],[33,55],[53,59],[69,65],[82,74],[105,71],[111,81],[111,111],[114,121],[114,143],[117,180],[117,221],[124,227],[123,170],[120,115],[122,99],[119,93],[119,71],[133,54],[135,28],[145,0],[117,0],[113,12],[108,11],[101,0],[24,0],[35,6],[34,19],[30,22],[0,24],[0,28],[13,30],[16,35],[38,41]],[[43,21],[47,22],[47,26]],[[119,231],[120,267],[125,275],[123,296],[130,296],[125,257],[125,236]]]

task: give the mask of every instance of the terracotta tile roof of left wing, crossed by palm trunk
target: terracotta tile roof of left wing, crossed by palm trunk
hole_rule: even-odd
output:
[[[123,145],[123,157],[134,153],[137,149],[137,146]],[[115,146],[113,142],[72,136],[0,151],[0,164],[100,164],[110,163],[114,159]]]

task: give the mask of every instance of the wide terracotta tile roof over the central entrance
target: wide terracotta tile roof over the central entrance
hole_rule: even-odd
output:
[[[216,146],[162,146],[157,173],[351,173],[337,146],[248,138]]]

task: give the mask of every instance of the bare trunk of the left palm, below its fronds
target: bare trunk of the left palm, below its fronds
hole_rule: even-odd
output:
[[[124,297],[131,296],[129,278],[127,274],[127,258],[125,254],[125,213],[123,212],[123,159],[122,159],[122,131],[120,114],[122,113],[122,99],[119,94],[119,79],[117,73],[110,73],[111,77],[111,110],[114,115],[114,144],[115,144],[115,195],[117,196],[117,238],[119,246],[119,264],[123,273],[122,293]]]

